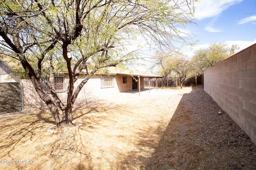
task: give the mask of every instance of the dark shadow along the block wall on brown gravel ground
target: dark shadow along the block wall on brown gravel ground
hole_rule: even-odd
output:
[[[151,133],[159,139],[148,139]],[[166,129],[150,129],[140,135],[138,145],[154,152],[149,158],[132,152],[118,169],[256,169],[256,146],[202,86],[182,96]],[[132,163],[140,166],[134,168]]]

